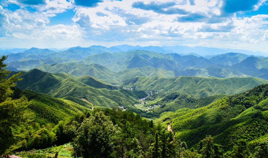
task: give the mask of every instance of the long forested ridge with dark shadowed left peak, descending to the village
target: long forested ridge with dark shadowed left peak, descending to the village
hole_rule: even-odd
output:
[[[138,98],[147,95],[143,91],[121,89],[90,76],[77,78],[68,74],[54,75],[33,69],[24,72],[21,78],[23,80],[17,84],[20,89],[31,89],[57,98],[84,99],[102,107],[132,107],[138,102]]]

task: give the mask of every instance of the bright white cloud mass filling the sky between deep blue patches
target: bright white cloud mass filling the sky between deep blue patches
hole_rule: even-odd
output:
[[[260,28],[268,25],[265,20],[268,15],[238,18],[235,14],[228,14],[225,17],[220,16],[223,6],[221,0],[196,0],[196,5],[191,5],[188,0],[173,1],[176,3],[172,6],[174,8],[209,17],[200,22],[181,22],[177,20],[178,17],[185,15],[137,9],[132,7],[133,2],[135,0],[105,0],[98,3],[97,7],[82,7],[75,6],[74,0],[46,0],[46,4],[34,6],[36,12],[31,12],[24,8],[26,4],[19,4],[14,0],[5,1],[2,5],[13,3],[20,5],[22,9],[11,11],[0,6],[1,36],[7,41],[39,40],[51,45],[60,40],[66,43],[73,40],[71,44],[83,43],[86,46],[102,42],[117,45],[120,42],[134,45],[202,45],[262,51],[268,48],[268,32]],[[151,0],[143,2],[149,4]],[[260,1],[255,9],[264,3],[266,1]],[[75,11],[75,16],[70,17],[73,24],[49,25],[51,17],[67,9]],[[86,41],[90,41],[90,44]]]

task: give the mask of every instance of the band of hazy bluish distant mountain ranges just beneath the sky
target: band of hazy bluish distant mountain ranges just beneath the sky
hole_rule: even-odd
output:
[[[135,76],[268,79],[268,58],[243,54],[254,54],[254,52],[242,50],[233,51],[243,53],[230,53],[230,49],[205,47],[117,45],[107,48],[92,45],[58,52],[39,48],[19,53],[6,51],[8,50],[1,53],[8,54],[5,62],[12,71],[37,68],[51,73],[69,73],[77,77],[91,75],[114,84]]]

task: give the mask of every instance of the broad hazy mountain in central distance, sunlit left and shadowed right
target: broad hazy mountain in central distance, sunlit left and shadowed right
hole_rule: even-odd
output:
[[[179,63],[166,57],[164,54],[159,54],[152,51],[128,51],[117,53],[102,53],[96,54],[81,60],[80,63],[92,64],[97,63],[109,69],[120,71],[126,68],[146,67],[164,68],[167,70],[182,69]]]

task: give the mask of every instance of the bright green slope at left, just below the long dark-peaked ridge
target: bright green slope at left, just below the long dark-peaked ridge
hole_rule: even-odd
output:
[[[39,123],[57,124],[65,117],[74,116],[77,113],[84,113],[92,109],[92,104],[83,101],[77,104],[68,99],[53,98],[43,93],[37,93],[28,89],[23,90],[19,95],[24,95],[29,100],[28,108],[35,114],[35,120]]]

